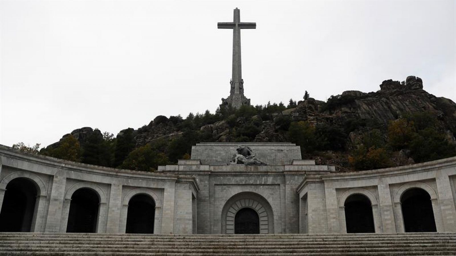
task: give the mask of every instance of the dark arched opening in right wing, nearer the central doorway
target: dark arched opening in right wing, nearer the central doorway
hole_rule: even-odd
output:
[[[375,233],[372,203],[367,196],[354,194],[344,203],[347,233]]]

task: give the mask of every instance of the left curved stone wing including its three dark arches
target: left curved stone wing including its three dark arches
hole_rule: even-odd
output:
[[[104,168],[5,146],[0,164],[0,232],[196,231],[192,204],[199,188],[192,177]]]

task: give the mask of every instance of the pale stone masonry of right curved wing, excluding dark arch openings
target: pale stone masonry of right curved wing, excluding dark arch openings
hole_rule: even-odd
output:
[[[371,202],[375,232],[404,232],[401,196],[423,189],[429,196],[437,232],[456,231],[456,157],[388,169],[324,175],[308,174],[297,192],[306,200],[307,233],[346,233],[344,203],[361,194]]]

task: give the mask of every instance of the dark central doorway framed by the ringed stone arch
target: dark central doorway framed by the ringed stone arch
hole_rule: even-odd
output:
[[[259,234],[259,216],[251,208],[238,210],[234,217],[234,234]]]

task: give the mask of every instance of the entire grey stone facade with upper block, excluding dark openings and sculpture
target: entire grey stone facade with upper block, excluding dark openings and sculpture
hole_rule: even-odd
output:
[[[259,233],[346,233],[347,202],[369,202],[373,231],[405,232],[404,195],[429,196],[436,231],[456,231],[456,157],[389,169],[337,173],[300,160],[292,143],[243,143],[267,165],[227,164],[234,143],[200,143],[192,159],[153,173],[104,168],[0,146],[0,207],[18,178],[36,187],[30,231],[66,232],[73,195],[86,188],[98,196],[98,233],[125,233],[130,202],[155,202],[153,233],[233,234],[239,210],[259,218]],[[228,155],[228,157],[227,157]],[[5,210],[6,208],[0,208]],[[404,217],[405,216],[405,217]],[[350,216],[348,216],[350,217]],[[2,220],[0,220],[1,222]]]

